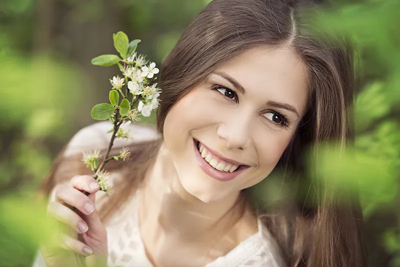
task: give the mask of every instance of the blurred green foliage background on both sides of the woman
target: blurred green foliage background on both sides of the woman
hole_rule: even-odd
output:
[[[117,67],[112,34],[141,39],[159,66],[209,0],[0,0],[0,266],[29,266],[48,234],[35,194],[91,108],[107,102]],[[321,171],[359,185],[368,266],[400,266],[400,1],[336,1],[318,25],[358,46],[360,91],[351,154],[320,155]],[[152,123],[154,116],[144,123]]]

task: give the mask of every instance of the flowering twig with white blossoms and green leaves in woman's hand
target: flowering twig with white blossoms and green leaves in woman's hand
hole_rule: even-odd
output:
[[[151,111],[158,108],[158,96],[161,92],[154,83],[154,75],[159,72],[155,63],[148,62],[145,56],[138,55],[135,50],[140,40],[133,40],[129,43],[123,32],[113,35],[114,47],[119,53],[117,55],[102,55],[92,59],[91,63],[98,66],[118,65],[122,77],[114,76],[110,79],[111,90],[109,91],[109,104],[97,104],[91,110],[91,117],[95,120],[110,120],[113,128],[111,139],[107,150],[99,164],[100,151],[83,152],[82,161],[93,172],[93,178],[100,184],[100,190],[108,192],[109,185],[107,178],[109,173],[104,171],[104,166],[111,160],[129,159],[130,152],[127,148],[119,151],[119,155],[110,157],[115,138],[129,138],[128,125],[139,120],[139,114],[148,117]],[[124,90],[123,90],[124,89]],[[124,91],[124,92],[123,92]],[[131,94],[131,98],[129,98]],[[119,96],[122,97],[119,103]],[[129,98],[129,99],[128,99]],[[85,193],[88,195],[88,193]]]

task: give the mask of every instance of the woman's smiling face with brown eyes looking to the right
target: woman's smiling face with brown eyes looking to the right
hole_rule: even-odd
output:
[[[305,66],[289,49],[254,48],[213,71],[165,118],[183,188],[214,202],[263,180],[296,131],[307,90]]]

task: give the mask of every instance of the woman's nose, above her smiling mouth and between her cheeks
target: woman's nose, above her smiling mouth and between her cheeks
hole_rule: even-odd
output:
[[[216,134],[229,149],[244,150],[250,145],[250,118],[245,115],[229,116],[217,127]]]

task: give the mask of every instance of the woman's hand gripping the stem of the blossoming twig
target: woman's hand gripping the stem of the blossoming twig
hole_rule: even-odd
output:
[[[47,267],[74,267],[73,254],[93,255],[95,261],[106,259],[107,235],[94,206],[94,193],[99,189],[98,183],[89,175],[74,176],[68,185],[56,186],[55,199],[48,204],[47,214],[67,227],[49,242],[51,244],[41,245]],[[90,195],[86,196],[83,191]],[[74,238],[74,232],[79,234],[78,239]]]

